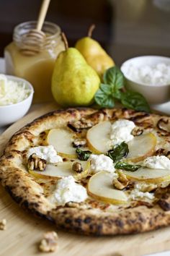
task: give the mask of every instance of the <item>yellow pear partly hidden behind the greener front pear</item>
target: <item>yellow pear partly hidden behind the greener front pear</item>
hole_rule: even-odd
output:
[[[102,46],[91,38],[92,30],[94,30],[94,25],[89,28],[88,36],[81,38],[76,43],[76,48],[81,52],[81,54],[86,59],[86,62],[96,70],[99,77],[102,77],[104,71],[110,67],[115,66],[115,62],[107,54]]]

